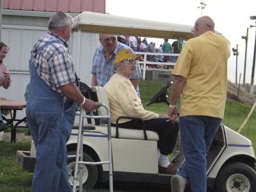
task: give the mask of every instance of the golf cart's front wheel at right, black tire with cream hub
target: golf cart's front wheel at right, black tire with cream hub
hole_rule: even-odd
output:
[[[230,163],[220,170],[216,179],[218,192],[254,192],[256,172],[245,163]]]

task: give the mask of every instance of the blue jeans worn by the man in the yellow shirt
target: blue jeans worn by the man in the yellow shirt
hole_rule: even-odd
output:
[[[221,124],[221,118],[211,116],[182,116],[180,136],[185,162],[177,175],[182,175],[191,192],[206,191],[206,156]]]

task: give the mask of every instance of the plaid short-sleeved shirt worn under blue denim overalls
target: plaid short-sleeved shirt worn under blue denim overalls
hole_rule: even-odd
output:
[[[52,40],[58,40],[60,43],[48,45],[36,54],[42,45]],[[75,82],[76,77],[72,56],[68,52],[67,42],[60,36],[48,31],[33,46],[31,54],[34,56],[36,54],[34,63],[37,67],[38,75],[52,90],[61,93],[58,87]]]

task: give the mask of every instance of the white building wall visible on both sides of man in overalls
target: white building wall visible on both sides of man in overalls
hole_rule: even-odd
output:
[[[49,17],[3,15],[1,40],[10,47],[4,63],[8,66],[13,81],[8,90],[0,88],[0,97],[9,100],[24,100],[24,92],[29,82],[30,51],[38,38],[46,33],[48,20]],[[92,79],[93,54],[98,45],[98,35],[92,33],[81,35],[81,48],[78,51],[77,33],[74,33],[70,41],[70,52],[77,76],[89,86]],[[24,116],[26,116],[25,110],[17,112],[18,118]]]

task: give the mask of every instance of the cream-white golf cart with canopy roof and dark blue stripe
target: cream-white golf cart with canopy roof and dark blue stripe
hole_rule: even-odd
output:
[[[184,28],[182,28],[181,25],[178,25],[180,28],[174,29],[172,28],[172,24],[163,24],[161,27],[157,26],[158,29],[152,29],[147,28],[148,22],[134,20],[129,27],[130,22],[125,20],[125,18],[122,18],[122,22],[118,25],[115,24],[113,16],[97,15],[97,13],[95,13],[97,17],[103,17],[103,19],[99,20],[106,25],[102,26],[102,23],[97,24],[95,21],[92,22],[92,20],[88,22],[90,24],[86,24],[85,19],[91,19],[92,13],[89,14],[90,17],[85,17],[84,14],[86,15],[86,13],[81,13],[81,15],[76,18],[74,28],[78,29],[78,31],[100,31],[100,33],[161,36],[166,38],[183,36],[188,39],[191,37],[191,26],[183,26]],[[125,22],[128,23],[126,26]],[[138,25],[136,26],[136,24]],[[126,29],[127,31],[125,31]],[[171,85],[172,83],[166,84],[166,86],[148,102],[148,105],[157,102],[166,102],[166,104],[168,104],[166,95]],[[108,96],[102,88],[90,88],[86,84],[80,83],[80,90],[87,98],[102,102],[107,106],[109,105]],[[96,112],[93,112],[93,115],[104,115],[105,113],[104,108],[100,107]],[[83,161],[108,161],[107,125],[99,125],[98,120],[92,119],[87,119],[87,122],[83,125],[85,127],[83,134]],[[77,132],[77,126],[75,126],[70,140],[67,143],[69,155],[76,154]],[[156,132],[122,129],[118,128],[117,125],[116,127],[111,127],[111,136],[113,180],[170,185],[172,175],[158,172],[157,140],[159,140],[159,137]],[[20,164],[24,170],[33,172],[35,154],[36,151],[32,142],[31,151],[17,151],[17,163]],[[75,157],[68,158],[68,172],[71,184],[73,184],[74,179],[75,159]],[[184,161],[179,137],[177,138],[177,145],[170,161],[177,164],[178,167]],[[236,131],[225,127],[225,125],[221,125],[207,156],[207,190],[218,192],[255,191],[255,162],[256,159],[252,141],[241,136],[241,134],[238,134]],[[107,164],[83,164],[82,169],[84,189],[93,188],[96,182],[107,182],[109,179],[109,166]],[[77,186],[79,186],[79,182],[77,182]]]

